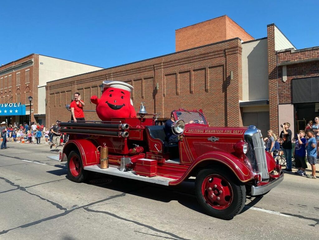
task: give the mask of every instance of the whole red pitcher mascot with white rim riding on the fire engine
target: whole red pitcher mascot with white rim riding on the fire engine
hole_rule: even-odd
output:
[[[102,121],[110,118],[136,117],[136,112],[131,100],[133,86],[120,81],[103,81],[101,98],[91,97],[91,102],[96,104],[96,113]]]

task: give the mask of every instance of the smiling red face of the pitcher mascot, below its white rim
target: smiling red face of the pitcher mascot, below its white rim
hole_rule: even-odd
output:
[[[109,87],[104,90],[96,112],[100,119],[127,117],[130,112],[130,104],[129,91]]]

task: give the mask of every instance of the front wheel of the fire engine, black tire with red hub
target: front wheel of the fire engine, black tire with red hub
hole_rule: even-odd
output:
[[[226,169],[200,170],[195,181],[195,192],[199,204],[208,215],[224,220],[233,219],[246,202],[245,185]]]

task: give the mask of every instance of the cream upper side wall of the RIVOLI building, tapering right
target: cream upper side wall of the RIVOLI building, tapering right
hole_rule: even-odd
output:
[[[48,81],[100,69],[102,68],[39,55],[39,85],[44,86]]]

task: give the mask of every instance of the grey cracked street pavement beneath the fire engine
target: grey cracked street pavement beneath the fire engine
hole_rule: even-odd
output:
[[[0,150],[0,239],[319,239],[319,179],[285,174],[225,221],[204,214],[192,180],[165,187],[94,175],[77,184],[65,162],[48,159],[58,154],[48,145],[8,147]]]

